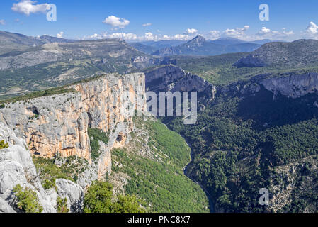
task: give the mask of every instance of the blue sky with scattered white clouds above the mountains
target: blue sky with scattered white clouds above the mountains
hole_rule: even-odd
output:
[[[57,6],[57,21],[47,21],[45,4]],[[259,20],[260,4],[268,4],[269,21]],[[0,6],[0,31],[33,36],[128,41],[187,40],[199,34],[210,39],[318,38],[317,0],[1,0]]]

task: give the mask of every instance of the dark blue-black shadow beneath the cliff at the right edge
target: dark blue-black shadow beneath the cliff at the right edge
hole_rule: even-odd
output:
[[[298,99],[277,96],[266,89],[242,98],[237,107],[237,116],[254,120],[257,129],[295,124],[318,117],[318,95],[307,94]]]

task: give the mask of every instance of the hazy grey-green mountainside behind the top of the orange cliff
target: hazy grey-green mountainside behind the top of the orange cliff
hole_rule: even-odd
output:
[[[1,32],[0,43],[0,96],[4,97],[160,63],[160,58],[119,39],[66,40]]]

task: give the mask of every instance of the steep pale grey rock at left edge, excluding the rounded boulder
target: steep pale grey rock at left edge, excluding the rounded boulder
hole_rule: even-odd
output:
[[[26,143],[3,123],[0,123],[0,140],[5,140],[9,148],[0,150],[0,199],[4,211],[12,211],[8,206],[16,207],[13,188],[20,184],[32,189],[38,195],[44,212],[55,213],[50,196],[42,188]],[[6,204],[4,204],[6,201]],[[8,206],[7,206],[8,205]]]

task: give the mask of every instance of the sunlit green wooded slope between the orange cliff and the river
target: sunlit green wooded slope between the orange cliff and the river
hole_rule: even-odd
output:
[[[183,174],[191,152],[185,140],[153,119],[135,118],[135,123],[147,135],[132,133],[126,149],[113,150],[110,178],[120,172],[131,177],[125,193],[137,194],[149,211],[208,212],[205,193]]]

